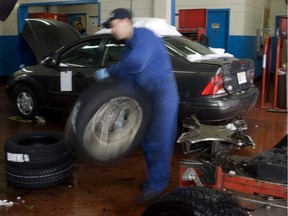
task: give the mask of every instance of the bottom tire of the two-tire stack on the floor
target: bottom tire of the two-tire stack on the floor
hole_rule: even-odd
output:
[[[72,160],[40,169],[22,169],[6,165],[6,178],[9,185],[26,188],[45,188],[66,181],[73,172]]]

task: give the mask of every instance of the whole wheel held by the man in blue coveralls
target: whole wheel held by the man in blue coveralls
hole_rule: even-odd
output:
[[[134,83],[108,79],[93,83],[77,100],[67,121],[67,134],[77,137],[78,152],[97,161],[129,154],[143,138],[151,107]]]

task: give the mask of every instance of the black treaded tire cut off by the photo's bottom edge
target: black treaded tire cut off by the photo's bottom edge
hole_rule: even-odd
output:
[[[223,199],[224,198],[224,199]],[[232,198],[204,187],[176,188],[152,203],[142,216],[248,216]]]

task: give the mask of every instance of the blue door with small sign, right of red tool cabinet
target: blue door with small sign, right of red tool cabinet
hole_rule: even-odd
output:
[[[207,36],[209,46],[227,50],[229,34],[229,9],[207,10]]]

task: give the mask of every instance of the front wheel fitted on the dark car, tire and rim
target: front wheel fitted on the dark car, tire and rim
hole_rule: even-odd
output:
[[[38,115],[39,103],[35,93],[28,86],[16,86],[13,101],[17,112],[25,119],[35,119]]]

